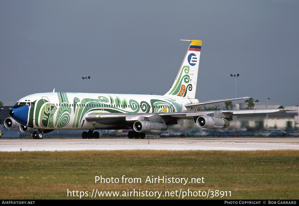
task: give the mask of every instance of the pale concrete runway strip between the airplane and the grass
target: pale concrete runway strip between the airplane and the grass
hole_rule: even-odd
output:
[[[0,139],[1,152],[21,150],[299,150],[299,138]]]

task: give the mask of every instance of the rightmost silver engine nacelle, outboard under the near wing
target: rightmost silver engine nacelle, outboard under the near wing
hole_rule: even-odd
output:
[[[229,126],[229,121],[218,117],[204,115],[197,118],[196,124],[202,128],[222,129]]]

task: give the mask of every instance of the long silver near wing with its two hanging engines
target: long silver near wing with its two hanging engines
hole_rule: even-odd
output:
[[[159,133],[166,125],[177,124],[178,119],[194,119],[202,128],[224,128],[229,126],[233,115],[266,114],[289,111],[286,109],[269,110],[219,110],[168,113],[90,113],[85,117],[95,129],[128,129],[137,132]]]

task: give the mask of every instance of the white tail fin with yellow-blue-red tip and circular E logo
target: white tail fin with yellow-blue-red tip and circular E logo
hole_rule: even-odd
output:
[[[199,66],[199,55],[202,47],[200,40],[191,41],[187,54],[176,80],[170,90],[164,96],[176,96],[182,98],[195,99],[197,72]]]

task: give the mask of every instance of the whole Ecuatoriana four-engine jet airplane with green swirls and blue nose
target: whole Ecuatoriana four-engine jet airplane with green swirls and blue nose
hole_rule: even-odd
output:
[[[103,93],[38,93],[21,98],[5,119],[6,128],[32,133],[33,139],[54,129],[81,129],[83,139],[98,139],[99,129],[132,129],[130,139],[146,133],[161,133],[179,119],[194,119],[200,128],[219,129],[230,125],[233,115],[279,113],[272,110],[196,111],[202,105],[249,97],[199,102],[195,99],[202,41],[190,41],[179,73],[163,96]]]

